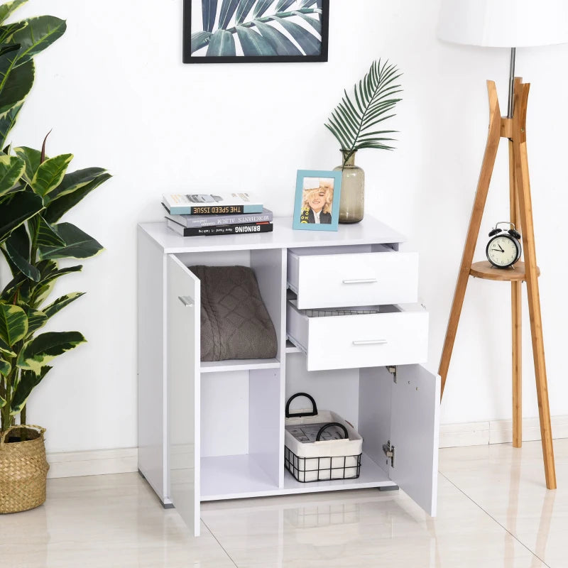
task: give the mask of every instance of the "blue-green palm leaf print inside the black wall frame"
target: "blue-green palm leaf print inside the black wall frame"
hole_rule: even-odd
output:
[[[192,33],[191,53],[207,47],[206,56],[236,56],[240,47],[252,57],[319,55],[322,10],[323,0],[202,0],[203,29]]]

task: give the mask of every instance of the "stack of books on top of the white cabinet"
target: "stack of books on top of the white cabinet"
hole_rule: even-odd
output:
[[[268,233],[272,212],[247,192],[218,195],[170,193],[162,204],[165,222],[182,236]]]

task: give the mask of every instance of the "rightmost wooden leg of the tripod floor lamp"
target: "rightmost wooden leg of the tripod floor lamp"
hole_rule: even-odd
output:
[[[525,249],[525,273],[527,280],[528,308],[530,315],[530,334],[532,356],[535,361],[540,435],[542,437],[542,457],[545,464],[546,486],[556,488],[554,449],[552,448],[552,427],[545,366],[545,346],[542,340],[542,319],[540,314],[540,295],[538,289],[537,263],[535,251],[535,232],[532,225],[532,202],[528,175],[528,155],[526,136],[526,114],[530,84],[521,84],[515,92],[515,114],[513,115],[513,153],[515,173],[518,184],[520,222],[523,226],[523,248]]]

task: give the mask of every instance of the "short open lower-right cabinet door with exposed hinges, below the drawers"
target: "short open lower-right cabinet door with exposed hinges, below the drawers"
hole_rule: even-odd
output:
[[[397,367],[391,404],[389,476],[435,517],[438,488],[440,378],[421,365]]]

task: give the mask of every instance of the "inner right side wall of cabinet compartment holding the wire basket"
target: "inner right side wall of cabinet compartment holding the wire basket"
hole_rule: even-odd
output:
[[[383,444],[391,438],[391,391],[393,376],[386,367],[359,371],[359,434],[363,451],[389,472]]]

